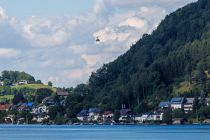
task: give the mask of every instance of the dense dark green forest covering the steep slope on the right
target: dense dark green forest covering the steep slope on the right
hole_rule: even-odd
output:
[[[166,16],[125,54],[93,72],[87,84],[67,89],[67,113],[125,105],[136,114],[173,96],[210,92],[210,1],[199,0]]]

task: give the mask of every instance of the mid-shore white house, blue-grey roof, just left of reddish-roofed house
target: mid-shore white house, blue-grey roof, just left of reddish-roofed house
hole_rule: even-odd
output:
[[[101,110],[99,108],[90,108],[88,110],[88,121],[98,121]]]

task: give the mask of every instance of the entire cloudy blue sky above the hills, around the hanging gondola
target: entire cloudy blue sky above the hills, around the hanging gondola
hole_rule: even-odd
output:
[[[61,87],[86,83],[167,14],[194,1],[0,0],[0,71],[25,71]]]

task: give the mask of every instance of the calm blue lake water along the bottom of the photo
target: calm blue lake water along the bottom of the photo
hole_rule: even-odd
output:
[[[210,140],[210,125],[0,125],[0,140]]]

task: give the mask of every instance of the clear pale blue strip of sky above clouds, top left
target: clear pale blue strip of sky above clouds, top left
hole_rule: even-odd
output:
[[[90,12],[94,0],[1,0],[9,16],[63,16]]]

